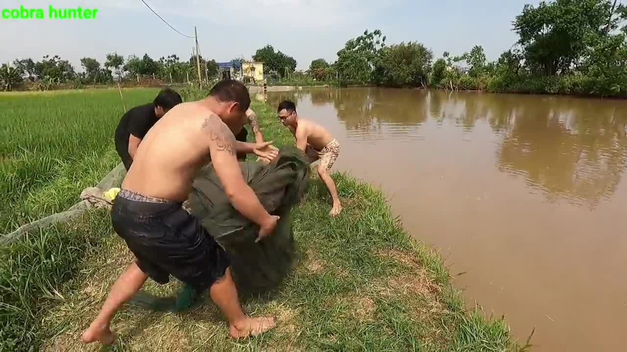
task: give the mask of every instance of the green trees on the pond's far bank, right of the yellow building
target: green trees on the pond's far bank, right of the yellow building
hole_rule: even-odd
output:
[[[387,46],[381,31],[366,30],[346,42],[335,63],[315,60],[310,71],[379,86],[627,96],[625,21],[618,0],[542,1],[512,21],[519,39],[496,61],[478,45],[433,61],[417,41]]]

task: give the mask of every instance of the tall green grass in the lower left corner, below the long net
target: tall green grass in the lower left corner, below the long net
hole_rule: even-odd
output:
[[[41,316],[64,299],[64,288],[108,232],[108,214],[90,212],[0,247],[0,351],[37,351],[54,336],[54,328],[41,328]]]

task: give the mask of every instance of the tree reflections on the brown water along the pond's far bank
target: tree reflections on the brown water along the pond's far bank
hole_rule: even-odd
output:
[[[552,201],[595,207],[616,192],[626,164],[624,101],[348,88],[271,93],[268,103],[284,99],[332,107],[329,118],[355,142],[423,140],[428,123],[448,138],[459,138],[452,126],[465,133],[489,127],[498,142],[486,152],[497,156],[497,169],[524,177]]]

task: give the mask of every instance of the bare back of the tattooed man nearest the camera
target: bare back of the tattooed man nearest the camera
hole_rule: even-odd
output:
[[[196,101],[175,106],[146,134],[122,188],[147,197],[186,200],[196,172],[210,161],[209,138],[233,148],[225,143],[234,140],[233,133],[213,111]]]

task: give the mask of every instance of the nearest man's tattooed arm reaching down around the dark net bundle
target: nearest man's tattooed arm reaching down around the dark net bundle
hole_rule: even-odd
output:
[[[274,229],[277,222],[272,217],[255,195],[255,192],[246,184],[242,175],[240,164],[236,158],[235,137],[233,132],[220,120],[218,115],[212,114],[205,118],[203,132],[209,137],[209,153],[211,162],[216,170],[218,179],[224,187],[226,196],[237,209],[248,219],[261,227],[261,232],[266,229]]]

